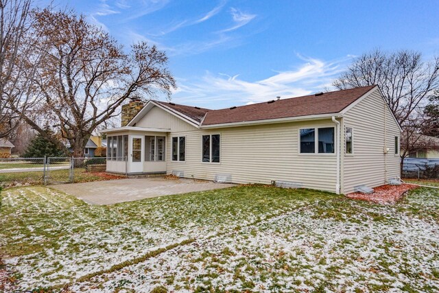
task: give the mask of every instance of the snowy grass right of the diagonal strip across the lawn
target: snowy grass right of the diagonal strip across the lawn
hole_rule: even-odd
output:
[[[428,210],[427,210],[428,209]],[[70,289],[79,292],[435,292],[439,193],[395,206],[310,200],[295,211],[202,238]]]

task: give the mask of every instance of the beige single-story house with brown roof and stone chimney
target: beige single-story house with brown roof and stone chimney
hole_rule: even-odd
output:
[[[107,172],[337,194],[400,176],[401,128],[378,86],[221,110],[134,100],[123,106],[122,121],[102,131],[112,158]]]

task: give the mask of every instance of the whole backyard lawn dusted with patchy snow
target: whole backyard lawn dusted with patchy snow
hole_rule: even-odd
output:
[[[21,290],[439,290],[436,189],[385,206],[241,186],[103,207],[20,187],[3,191],[1,214]]]

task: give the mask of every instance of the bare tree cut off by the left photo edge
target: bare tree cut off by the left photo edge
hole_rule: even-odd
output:
[[[27,97],[40,60],[29,38],[31,4],[32,0],[0,0],[0,137],[19,126],[20,113],[30,106]]]

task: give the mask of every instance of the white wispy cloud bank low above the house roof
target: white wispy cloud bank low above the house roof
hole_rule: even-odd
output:
[[[252,104],[274,99],[276,96],[294,97],[308,95],[329,87],[347,65],[350,57],[325,62],[316,58],[303,58],[302,65],[255,82],[239,75],[206,73],[200,82],[178,80],[179,91],[174,100],[200,106],[223,108],[239,104]],[[214,107],[213,107],[214,106]]]

